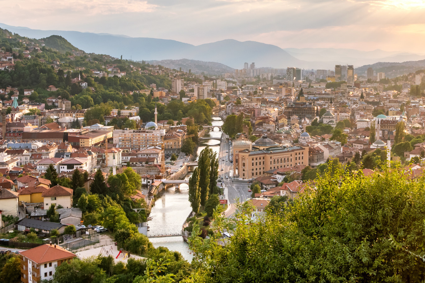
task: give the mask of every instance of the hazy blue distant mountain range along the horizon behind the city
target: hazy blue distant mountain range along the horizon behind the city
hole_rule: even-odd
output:
[[[0,28],[29,38],[45,38],[51,35],[62,36],[71,45],[87,53],[108,54],[114,57],[122,55],[123,59],[134,61],[158,62],[166,60],[166,67],[208,67],[208,73],[215,70],[242,69],[244,62],[255,62],[256,67],[300,67],[304,69],[334,69],[335,64],[352,64],[354,67],[375,64],[377,62],[418,61],[425,59],[425,54],[400,51],[372,50],[361,51],[344,48],[280,48],[276,45],[255,41],[237,41],[225,39],[202,45],[192,45],[171,39],[147,37],[130,37],[126,35],[95,34],[79,31],[37,30],[16,27],[0,23]],[[182,59],[196,60],[185,62]],[[178,65],[173,60],[178,60]],[[211,63],[220,63],[215,65]],[[394,63],[394,64],[395,64]],[[158,64],[161,64],[158,62]],[[169,65],[167,65],[169,64]],[[392,63],[391,63],[392,64]],[[195,67],[196,69],[196,67]],[[226,71],[226,72],[229,72]]]

